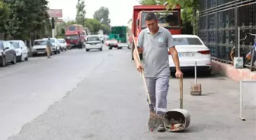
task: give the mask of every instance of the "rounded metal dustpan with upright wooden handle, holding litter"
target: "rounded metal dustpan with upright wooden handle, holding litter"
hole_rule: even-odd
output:
[[[180,108],[168,110],[164,116],[165,129],[170,132],[178,132],[190,125],[190,114],[183,109],[183,78],[180,79]]]

